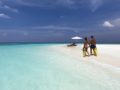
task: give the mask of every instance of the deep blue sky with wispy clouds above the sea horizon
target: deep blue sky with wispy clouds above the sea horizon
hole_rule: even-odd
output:
[[[0,0],[0,42],[120,43],[120,0]]]

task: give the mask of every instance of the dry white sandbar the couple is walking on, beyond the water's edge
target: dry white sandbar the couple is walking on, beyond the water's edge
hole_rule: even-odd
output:
[[[59,52],[77,58],[86,60],[91,63],[97,63],[101,65],[109,65],[113,67],[120,68],[120,45],[106,44],[97,45],[98,56],[83,57],[82,45],[75,47],[67,47],[67,45],[58,45],[53,46],[53,49],[58,50]]]

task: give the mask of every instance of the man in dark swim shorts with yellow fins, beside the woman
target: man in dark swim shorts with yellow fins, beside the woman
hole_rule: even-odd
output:
[[[94,54],[92,53],[92,51],[94,52]],[[91,40],[90,40],[90,53],[91,53],[91,55],[97,56],[96,40],[95,40],[94,36],[91,36]]]

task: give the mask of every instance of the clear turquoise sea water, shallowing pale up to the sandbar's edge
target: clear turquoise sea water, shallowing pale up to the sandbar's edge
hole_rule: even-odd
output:
[[[76,60],[51,46],[1,45],[0,90],[120,90],[119,72]]]

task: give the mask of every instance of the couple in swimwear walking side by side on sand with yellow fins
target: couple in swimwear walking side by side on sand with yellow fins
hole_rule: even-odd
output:
[[[84,38],[84,46],[83,46],[83,56],[90,56],[88,52],[88,48],[90,47],[90,54],[97,56],[96,53],[96,40],[94,36],[91,36],[90,41],[88,41],[87,37]]]

